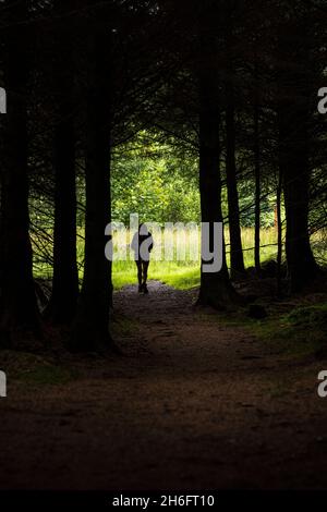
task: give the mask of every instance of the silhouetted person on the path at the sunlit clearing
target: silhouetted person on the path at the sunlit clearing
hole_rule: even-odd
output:
[[[148,293],[146,280],[154,240],[146,224],[138,225],[138,230],[133,236],[131,247],[134,251],[134,259],[137,267],[138,293]]]

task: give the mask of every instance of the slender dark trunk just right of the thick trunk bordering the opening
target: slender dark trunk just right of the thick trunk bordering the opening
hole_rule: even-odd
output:
[[[239,193],[235,163],[235,97],[234,97],[234,73],[232,62],[232,27],[230,8],[227,7],[226,21],[226,176],[228,194],[229,233],[230,233],[230,268],[232,279],[238,279],[245,273],[241,225]]]

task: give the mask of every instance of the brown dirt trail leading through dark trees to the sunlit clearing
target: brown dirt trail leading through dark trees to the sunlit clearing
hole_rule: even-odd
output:
[[[123,357],[9,383],[0,488],[326,487],[320,364],[292,362],[158,282],[116,293]],[[124,320],[125,322],[126,320]]]

